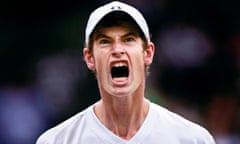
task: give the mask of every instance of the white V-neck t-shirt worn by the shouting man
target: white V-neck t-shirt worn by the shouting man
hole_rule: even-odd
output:
[[[125,140],[107,129],[93,106],[42,134],[37,144],[215,144],[203,127],[150,102],[141,128]]]

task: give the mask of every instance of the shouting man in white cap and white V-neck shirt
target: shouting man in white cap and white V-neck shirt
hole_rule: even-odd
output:
[[[204,128],[144,97],[154,44],[138,10],[121,2],[96,9],[85,43],[101,100],[45,132],[37,144],[215,143]]]

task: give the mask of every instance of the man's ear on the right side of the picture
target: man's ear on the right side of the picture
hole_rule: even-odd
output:
[[[152,42],[150,42],[148,44],[147,49],[144,50],[144,63],[145,63],[145,65],[150,65],[152,63],[154,52],[155,52],[155,46]]]

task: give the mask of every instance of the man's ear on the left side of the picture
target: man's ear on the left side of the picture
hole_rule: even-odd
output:
[[[88,48],[83,49],[83,55],[84,55],[84,60],[87,64],[87,67],[90,70],[95,71],[95,62],[94,62],[93,54],[89,51]]]

